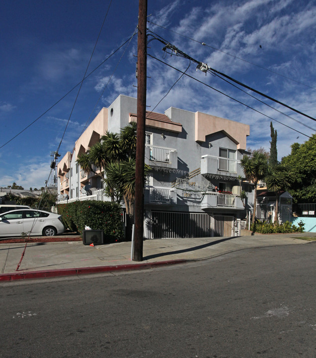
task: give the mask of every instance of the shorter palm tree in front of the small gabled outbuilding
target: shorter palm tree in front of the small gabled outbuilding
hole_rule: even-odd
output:
[[[278,164],[268,167],[265,182],[267,189],[274,191],[276,195],[274,224],[279,224],[279,199],[281,191],[289,188],[292,181],[292,174],[284,166]]]

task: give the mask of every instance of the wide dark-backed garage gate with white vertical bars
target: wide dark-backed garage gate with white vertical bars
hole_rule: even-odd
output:
[[[152,239],[212,236],[212,216],[206,213],[152,211]]]

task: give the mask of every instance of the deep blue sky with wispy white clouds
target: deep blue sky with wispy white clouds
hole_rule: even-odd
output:
[[[72,151],[119,94],[136,97],[138,5],[0,1],[0,187],[45,186],[53,151],[59,148],[62,157]],[[267,151],[272,121],[279,160],[315,133],[315,120],[196,71],[196,63],[162,51],[157,40],[316,118],[314,0],[148,0],[148,20],[149,109],[163,113],[173,106],[249,124],[247,148]],[[191,77],[179,79],[170,66]],[[90,75],[80,87],[85,72]]]

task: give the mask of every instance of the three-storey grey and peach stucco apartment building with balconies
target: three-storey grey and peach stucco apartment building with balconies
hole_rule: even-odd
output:
[[[107,130],[119,132],[137,122],[136,108],[136,98],[119,95],[101,109],[74,151],[60,160],[60,203],[110,200],[103,194],[101,176],[86,174],[76,160]],[[244,180],[240,167],[248,135],[248,125],[206,113],[173,107],[164,113],[148,112],[145,162],[152,171],[144,188],[144,237],[238,235],[239,223],[253,203],[253,185]],[[248,192],[245,205],[240,189]]]

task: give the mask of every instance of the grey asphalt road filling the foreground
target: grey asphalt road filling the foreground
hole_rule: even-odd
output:
[[[316,243],[0,285],[0,357],[316,357]]]

